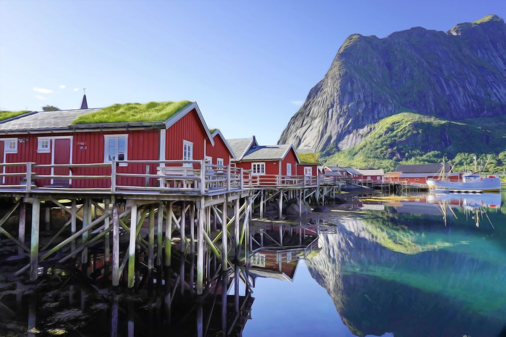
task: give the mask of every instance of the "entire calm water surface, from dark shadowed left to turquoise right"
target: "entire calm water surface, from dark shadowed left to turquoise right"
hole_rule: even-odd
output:
[[[350,197],[302,226],[258,223],[237,297],[233,271],[203,301],[177,278],[135,295],[3,279],[0,335],[506,335],[505,199]]]

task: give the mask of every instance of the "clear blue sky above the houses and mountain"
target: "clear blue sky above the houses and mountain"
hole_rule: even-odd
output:
[[[2,0],[0,109],[75,109],[85,87],[94,108],[187,99],[226,137],[267,145],[348,35],[487,14],[505,18],[506,2]]]

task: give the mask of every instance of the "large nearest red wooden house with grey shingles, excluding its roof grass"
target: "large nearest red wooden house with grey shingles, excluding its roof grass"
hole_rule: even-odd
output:
[[[150,103],[151,104],[151,103]],[[73,124],[79,117],[101,111],[88,109],[30,112],[0,121],[0,164],[32,162],[37,175],[111,175],[111,162],[119,174],[156,174],[157,167],[188,166],[183,161],[203,160],[214,146],[197,103],[188,102],[166,120]],[[224,158],[225,159],[225,158]],[[129,163],[168,161],[180,163]],[[88,167],[38,167],[54,164],[97,164]],[[26,166],[5,166],[3,173],[26,172]],[[19,185],[20,176],[4,176],[4,185]],[[110,188],[111,178],[37,179],[37,186]],[[145,178],[121,176],[117,185],[146,186]],[[156,178],[147,185],[157,186]]]

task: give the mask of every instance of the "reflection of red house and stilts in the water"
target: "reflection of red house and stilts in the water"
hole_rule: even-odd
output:
[[[254,286],[259,277],[293,282],[299,260],[314,256],[320,251],[319,233],[335,233],[335,226],[316,221],[315,224],[305,226],[272,223],[251,229],[249,274]]]

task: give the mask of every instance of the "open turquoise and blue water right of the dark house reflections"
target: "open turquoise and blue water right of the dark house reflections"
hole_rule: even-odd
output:
[[[299,262],[293,283],[257,282],[245,336],[506,333],[500,195],[353,204],[325,216],[337,230],[319,235],[321,251]]]

